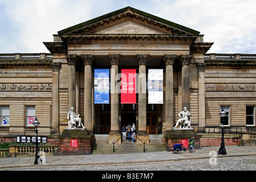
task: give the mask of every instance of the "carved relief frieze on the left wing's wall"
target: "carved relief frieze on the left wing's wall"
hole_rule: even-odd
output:
[[[51,91],[52,84],[1,84],[0,91]]]

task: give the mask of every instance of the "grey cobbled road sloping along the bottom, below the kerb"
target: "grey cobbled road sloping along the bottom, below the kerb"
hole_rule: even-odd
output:
[[[81,166],[24,167],[4,170],[33,171],[255,171],[256,156],[194,159],[170,162],[126,163]]]

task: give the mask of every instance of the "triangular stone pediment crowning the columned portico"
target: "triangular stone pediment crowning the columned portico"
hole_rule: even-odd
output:
[[[112,13],[99,16],[87,22],[59,31],[59,35],[89,34],[179,34],[199,35],[198,31],[126,7]]]

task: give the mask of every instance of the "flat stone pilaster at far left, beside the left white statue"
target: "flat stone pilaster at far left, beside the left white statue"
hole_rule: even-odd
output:
[[[51,134],[59,134],[59,68],[61,63],[51,63],[53,71]]]

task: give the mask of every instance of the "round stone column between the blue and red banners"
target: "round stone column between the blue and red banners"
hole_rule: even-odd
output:
[[[119,96],[118,92],[115,89],[117,86],[118,80],[116,76],[118,75],[118,64],[121,61],[121,55],[109,55],[111,63],[110,71],[110,94],[111,94],[111,129],[109,134],[109,144],[116,142],[120,137],[120,125],[119,125]],[[121,140],[118,140],[118,143],[121,144]]]

